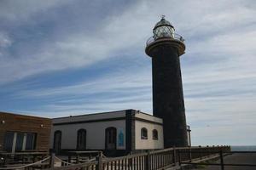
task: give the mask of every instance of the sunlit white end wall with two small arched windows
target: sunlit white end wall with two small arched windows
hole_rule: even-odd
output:
[[[141,139],[141,129],[146,127],[148,130],[148,139]],[[158,132],[158,139],[153,139],[152,131],[156,129]],[[150,122],[135,121],[135,149],[136,150],[148,150],[148,149],[163,149],[163,127],[159,124]]]

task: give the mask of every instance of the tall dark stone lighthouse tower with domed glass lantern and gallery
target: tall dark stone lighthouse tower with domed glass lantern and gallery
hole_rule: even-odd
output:
[[[187,146],[186,116],[179,56],[184,54],[183,37],[164,17],[154,26],[146,54],[152,58],[153,114],[163,119],[165,148]]]

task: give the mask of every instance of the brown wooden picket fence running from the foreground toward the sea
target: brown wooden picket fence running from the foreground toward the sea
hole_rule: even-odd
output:
[[[89,162],[68,165],[66,167],[54,167],[52,170],[154,170],[178,166],[178,162],[194,161],[209,156],[216,156],[216,152],[222,150],[230,151],[230,146],[215,147],[184,147],[169,148],[165,150],[153,150],[139,154],[108,158],[102,153],[96,160]]]

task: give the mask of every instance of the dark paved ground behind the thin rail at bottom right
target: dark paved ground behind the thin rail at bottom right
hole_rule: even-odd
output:
[[[219,163],[219,161],[216,161]],[[230,156],[224,157],[224,163],[232,163],[232,164],[254,164],[256,165],[256,154],[232,154]],[[197,168],[199,169],[199,168]],[[218,166],[208,166],[205,168],[206,170],[221,170]],[[224,167],[224,170],[255,170],[256,167]]]

